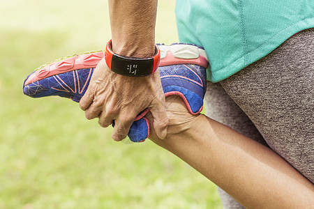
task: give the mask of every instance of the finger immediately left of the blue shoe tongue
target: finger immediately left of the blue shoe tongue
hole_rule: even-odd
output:
[[[115,125],[112,132],[112,139],[114,139],[114,141],[121,141],[126,138],[130,130],[130,126],[136,117],[135,114],[133,115],[134,116],[130,116],[128,113],[120,114],[119,118],[114,120]]]

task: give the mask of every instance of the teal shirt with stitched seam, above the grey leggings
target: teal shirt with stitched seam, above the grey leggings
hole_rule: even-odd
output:
[[[177,0],[180,42],[204,47],[220,82],[314,27],[314,0]]]

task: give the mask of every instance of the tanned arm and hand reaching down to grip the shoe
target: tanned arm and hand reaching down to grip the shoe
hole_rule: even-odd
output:
[[[154,56],[156,10],[156,0],[109,0],[112,51],[138,58]],[[108,65],[104,59],[98,63],[89,87],[80,100],[86,118],[98,117],[102,127],[114,121],[112,139],[120,141],[128,134],[137,115],[149,108],[154,115],[154,128],[158,136],[164,139],[168,119],[158,69],[145,77],[128,77],[119,75]],[[134,66],[131,63],[128,65]],[[126,67],[120,66],[119,71],[126,71]]]

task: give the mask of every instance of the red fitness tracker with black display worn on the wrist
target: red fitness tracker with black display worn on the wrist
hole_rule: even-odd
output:
[[[155,45],[155,55],[149,58],[121,56],[112,52],[112,41],[107,43],[105,61],[113,72],[129,77],[144,77],[154,73],[160,61],[160,51]]]

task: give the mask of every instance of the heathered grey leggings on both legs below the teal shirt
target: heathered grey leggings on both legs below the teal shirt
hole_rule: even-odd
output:
[[[205,106],[210,118],[269,146],[314,183],[314,29],[220,83],[207,82]],[[224,208],[243,208],[218,190]]]

